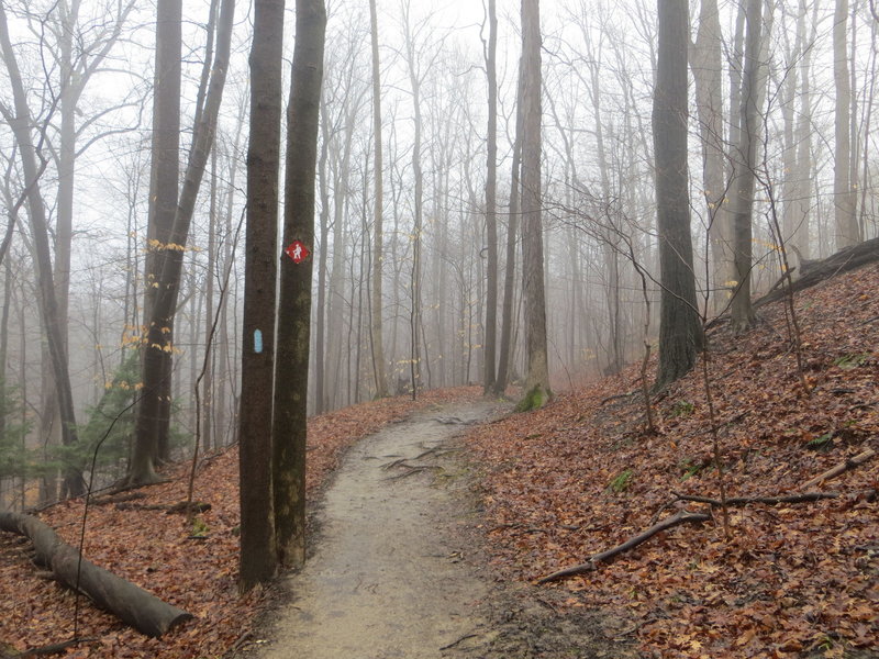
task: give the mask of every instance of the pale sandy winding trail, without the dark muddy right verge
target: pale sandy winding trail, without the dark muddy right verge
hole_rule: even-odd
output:
[[[449,440],[496,407],[424,412],[348,453],[264,659],[441,657],[482,637],[488,587],[461,560],[455,527],[468,523],[468,506],[454,493]]]

